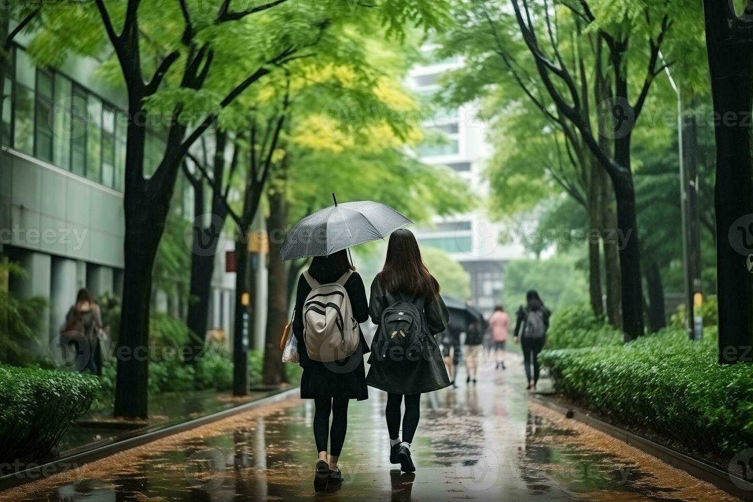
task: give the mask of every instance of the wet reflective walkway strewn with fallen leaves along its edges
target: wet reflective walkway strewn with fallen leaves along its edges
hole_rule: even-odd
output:
[[[461,379],[465,373],[461,371]],[[481,369],[422,397],[417,471],[389,464],[386,394],[351,402],[342,485],[312,487],[312,402],[245,412],[32,484],[0,500],[737,500],[526,398],[523,369]]]

